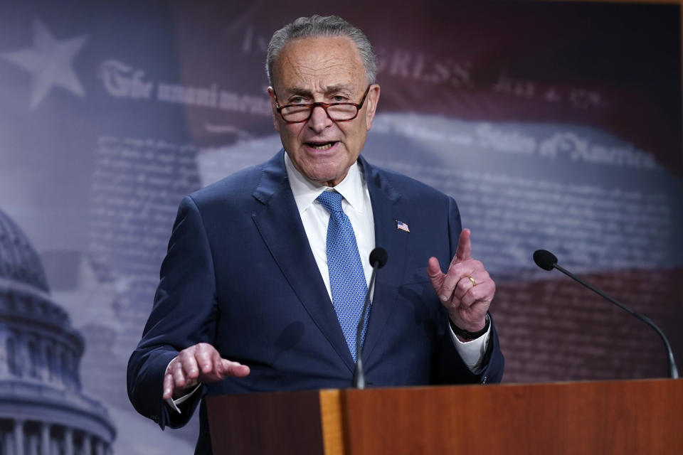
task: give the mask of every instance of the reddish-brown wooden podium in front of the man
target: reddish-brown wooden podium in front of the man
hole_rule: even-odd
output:
[[[214,454],[683,454],[683,380],[207,397]]]

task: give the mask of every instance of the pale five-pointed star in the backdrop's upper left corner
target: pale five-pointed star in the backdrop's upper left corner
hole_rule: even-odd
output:
[[[57,41],[45,24],[35,19],[33,47],[2,54],[5,60],[31,73],[31,109],[40,104],[52,87],[62,87],[78,97],[85,95],[71,63],[87,40],[87,35],[81,35]]]

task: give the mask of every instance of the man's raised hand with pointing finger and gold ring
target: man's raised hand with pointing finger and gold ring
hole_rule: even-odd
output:
[[[457,251],[448,272],[441,272],[439,259],[430,257],[427,274],[455,326],[470,332],[484,328],[496,284],[484,264],[472,259],[469,229],[460,232]]]

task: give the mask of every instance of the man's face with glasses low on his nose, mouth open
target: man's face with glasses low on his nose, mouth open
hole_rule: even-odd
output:
[[[368,82],[356,45],[344,36],[290,41],[272,72],[275,87],[270,87],[268,94],[282,146],[309,181],[337,185],[361,154],[375,115],[379,85],[370,87],[358,117],[349,122],[334,122],[322,107],[316,107],[306,122],[287,123],[275,110],[275,103],[359,103]]]

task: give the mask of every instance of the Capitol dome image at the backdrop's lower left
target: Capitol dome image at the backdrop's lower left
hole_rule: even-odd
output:
[[[0,454],[112,454],[112,420],[81,387],[83,350],[36,250],[0,210]]]

